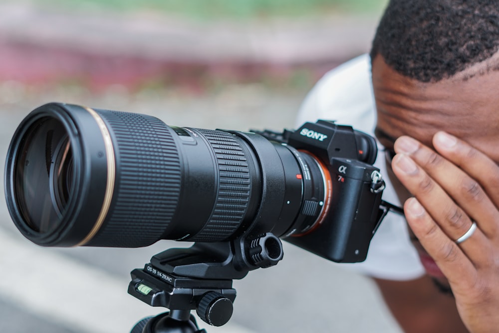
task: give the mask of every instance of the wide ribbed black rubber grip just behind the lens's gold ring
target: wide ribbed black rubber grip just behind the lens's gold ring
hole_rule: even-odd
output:
[[[173,137],[157,118],[95,111],[106,120],[116,140],[117,178],[104,225],[87,245],[150,245],[161,239],[180,197],[180,160]]]

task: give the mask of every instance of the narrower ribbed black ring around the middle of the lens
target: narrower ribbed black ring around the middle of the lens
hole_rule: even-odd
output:
[[[235,137],[222,131],[197,129],[215,152],[219,188],[213,213],[205,227],[190,241],[220,241],[241,225],[250,201],[248,158]]]

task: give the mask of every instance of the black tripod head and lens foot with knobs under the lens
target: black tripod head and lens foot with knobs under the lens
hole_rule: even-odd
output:
[[[199,329],[191,310],[212,326],[227,324],[236,299],[233,279],[276,265],[282,257],[282,244],[271,233],[195,243],[189,249],[169,249],[153,256],[144,269],[131,272],[128,293],[170,312],[140,321],[131,333],[206,333]]]

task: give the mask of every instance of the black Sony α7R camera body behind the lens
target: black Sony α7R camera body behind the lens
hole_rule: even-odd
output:
[[[273,139],[317,157],[330,182],[329,207],[320,223],[304,234],[283,239],[335,262],[364,261],[385,214],[380,209],[384,181],[372,165],[377,155],[374,138],[350,126],[319,120]]]

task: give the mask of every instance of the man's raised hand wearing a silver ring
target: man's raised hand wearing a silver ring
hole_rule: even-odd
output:
[[[414,198],[407,222],[449,280],[473,333],[499,328],[499,166],[469,144],[438,132],[437,152],[402,136],[392,168]],[[471,237],[457,244],[476,222]]]

